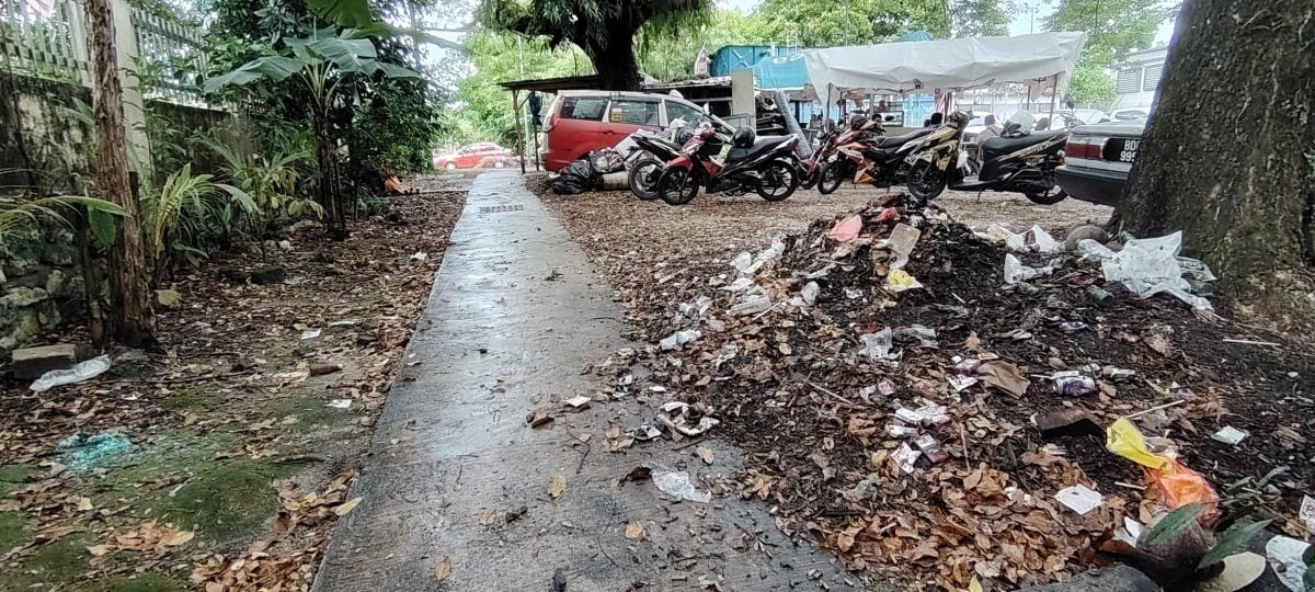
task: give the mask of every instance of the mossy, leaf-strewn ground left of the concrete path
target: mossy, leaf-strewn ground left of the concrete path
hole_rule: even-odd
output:
[[[105,374],[45,392],[5,384],[0,591],[309,589],[360,501],[345,495],[462,183],[422,179],[346,241],[301,222],[160,285],[160,353],[109,351]]]

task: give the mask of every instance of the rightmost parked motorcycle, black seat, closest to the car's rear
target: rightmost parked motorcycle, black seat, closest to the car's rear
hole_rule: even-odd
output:
[[[977,175],[970,174],[968,154],[959,147],[957,134],[928,145],[911,157],[909,193],[930,200],[949,187],[955,191],[1018,192],[1041,205],[1064,200],[1068,195],[1055,183],[1055,168],[1064,164],[1061,150],[1069,132],[1032,132],[1031,118],[1031,113],[1015,113],[999,137],[982,142],[981,172]]]

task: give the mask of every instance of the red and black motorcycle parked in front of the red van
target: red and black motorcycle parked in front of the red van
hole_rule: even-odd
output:
[[[726,162],[718,164],[713,155],[722,151],[727,139],[731,149]],[[798,141],[793,134],[757,138],[750,128],[740,128],[726,138],[711,124],[700,124],[681,146],[681,154],[667,162],[658,178],[658,195],[671,205],[684,205],[705,187],[709,193],[756,191],[764,200],[781,201],[800,185],[800,164],[794,155]]]

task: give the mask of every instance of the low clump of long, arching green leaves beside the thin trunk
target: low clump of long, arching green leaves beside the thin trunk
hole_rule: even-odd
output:
[[[258,212],[251,196],[212,179],[212,175],[192,175],[192,166],[184,164],[158,189],[146,188],[141,201],[142,233],[159,264],[172,262],[167,246],[204,253],[208,246],[238,234],[243,213]]]

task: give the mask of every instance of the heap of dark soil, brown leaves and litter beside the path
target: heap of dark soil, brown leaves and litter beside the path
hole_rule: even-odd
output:
[[[658,270],[672,304],[633,320],[652,379],[718,410],[710,432],[748,451],[742,495],[782,530],[882,578],[1014,588],[1109,562],[1130,521],[1218,503],[1159,437],[1218,400],[1145,357],[1210,312],[1212,276],[1181,237],[1101,234],[973,232],[886,196]],[[1143,300],[1160,292],[1190,307]]]

